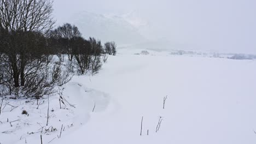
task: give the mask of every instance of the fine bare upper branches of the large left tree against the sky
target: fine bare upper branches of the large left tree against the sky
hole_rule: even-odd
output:
[[[54,25],[52,0],[1,0],[0,26],[9,31],[48,32]]]

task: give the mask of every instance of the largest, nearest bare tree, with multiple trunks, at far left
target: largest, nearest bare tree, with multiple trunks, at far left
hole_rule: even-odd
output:
[[[50,62],[45,34],[55,22],[52,13],[51,0],[0,1],[0,35],[4,35],[0,39],[1,63],[10,70],[10,79],[5,82],[10,93],[20,88],[24,94],[44,93],[49,88],[48,74],[44,73]]]

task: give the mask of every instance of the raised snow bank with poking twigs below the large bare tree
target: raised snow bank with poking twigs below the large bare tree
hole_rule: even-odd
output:
[[[59,95],[49,97],[49,124],[46,126],[48,99],[4,100],[0,115],[0,142],[5,143],[39,143],[42,132],[44,143],[56,141],[62,136],[76,131],[86,124],[94,113],[107,109],[109,95],[86,88],[81,83],[70,82],[61,89],[63,98],[60,109]],[[38,108],[37,108],[38,107]],[[22,115],[26,110],[28,115]],[[14,122],[13,122],[14,121]],[[11,123],[10,123],[11,122]],[[67,134],[66,134],[67,131]]]

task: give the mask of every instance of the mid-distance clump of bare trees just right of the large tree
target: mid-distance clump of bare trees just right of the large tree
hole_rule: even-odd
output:
[[[63,55],[78,68],[78,74],[96,74],[101,68],[101,55],[104,53],[100,40],[82,37],[76,26],[65,23],[49,33],[51,46],[55,49],[60,61]]]

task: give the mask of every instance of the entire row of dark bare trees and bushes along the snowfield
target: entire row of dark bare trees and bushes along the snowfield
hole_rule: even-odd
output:
[[[54,29],[52,0],[0,0],[0,97],[40,98],[74,74],[96,74],[117,45]]]

